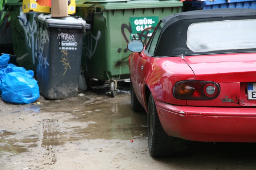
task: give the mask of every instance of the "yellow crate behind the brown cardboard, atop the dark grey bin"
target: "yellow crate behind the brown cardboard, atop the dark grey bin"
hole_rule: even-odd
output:
[[[22,8],[24,13],[51,13],[51,7],[41,6],[35,0],[23,0]],[[74,15],[76,13],[76,0],[71,0],[68,6],[68,14]]]

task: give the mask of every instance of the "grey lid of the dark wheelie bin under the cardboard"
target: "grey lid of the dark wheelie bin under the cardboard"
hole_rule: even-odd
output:
[[[43,23],[46,27],[53,28],[72,28],[72,29],[91,29],[91,25],[86,23],[81,17],[60,17],[51,18],[51,14],[39,14],[35,16],[35,20]]]

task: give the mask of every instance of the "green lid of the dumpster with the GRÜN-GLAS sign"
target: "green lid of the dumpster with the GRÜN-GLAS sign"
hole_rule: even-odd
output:
[[[102,7],[103,9],[135,9],[157,7],[182,7],[178,0],[76,0],[77,7]]]

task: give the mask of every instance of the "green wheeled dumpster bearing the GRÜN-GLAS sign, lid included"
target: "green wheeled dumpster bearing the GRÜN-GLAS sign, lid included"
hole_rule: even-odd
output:
[[[114,97],[116,80],[129,78],[127,43],[136,39],[146,45],[158,21],[182,6],[176,0],[76,0],[76,15],[91,24],[83,44],[85,76],[111,80]]]

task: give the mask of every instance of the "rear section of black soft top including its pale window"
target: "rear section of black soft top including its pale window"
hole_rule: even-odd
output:
[[[162,30],[154,56],[256,52],[256,15],[176,21]]]

